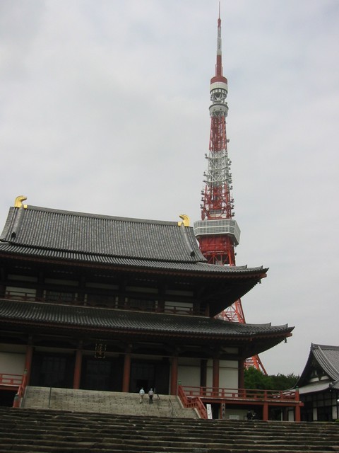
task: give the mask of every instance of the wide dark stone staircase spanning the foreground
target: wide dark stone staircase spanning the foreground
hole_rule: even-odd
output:
[[[339,452],[338,423],[194,420],[0,407],[6,453]]]

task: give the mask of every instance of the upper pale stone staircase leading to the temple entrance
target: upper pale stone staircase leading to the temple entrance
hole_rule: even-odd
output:
[[[177,396],[155,395],[153,404],[148,395],[140,403],[138,394],[114,391],[73,390],[28,386],[22,408],[57,409],[58,411],[115,413],[153,417],[198,418],[194,409],[182,406]]]

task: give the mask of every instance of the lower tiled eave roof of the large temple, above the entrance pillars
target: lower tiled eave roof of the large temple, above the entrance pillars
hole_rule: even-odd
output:
[[[293,327],[266,324],[242,324],[205,316],[182,316],[145,313],[117,309],[102,309],[67,304],[43,304],[40,302],[14,302],[0,299],[0,325],[24,324],[45,326],[49,329],[74,329],[93,331],[101,335],[138,333],[181,338],[238,338],[254,339],[277,337],[283,340]]]

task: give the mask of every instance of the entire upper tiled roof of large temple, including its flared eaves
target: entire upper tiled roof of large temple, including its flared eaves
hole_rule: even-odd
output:
[[[13,256],[210,275],[264,277],[262,266],[206,263],[193,228],[44,207],[11,207],[0,251]]]

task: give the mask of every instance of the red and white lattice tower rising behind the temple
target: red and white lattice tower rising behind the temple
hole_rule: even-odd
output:
[[[227,79],[222,74],[220,6],[218,18],[217,64],[215,76],[210,79],[210,146],[206,154],[207,171],[203,174],[204,189],[201,191],[201,221],[194,222],[194,233],[203,256],[208,263],[235,265],[234,248],[240,239],[240,229],[234,217],[234,200],[231,196],[231,161],[227,153],[226,117],[228,106]],[[241,300],[234,302],[218,316],[225,321],[245,323]],[[246,366],[254,366],[266,374],[258,356],[246,360]]]

